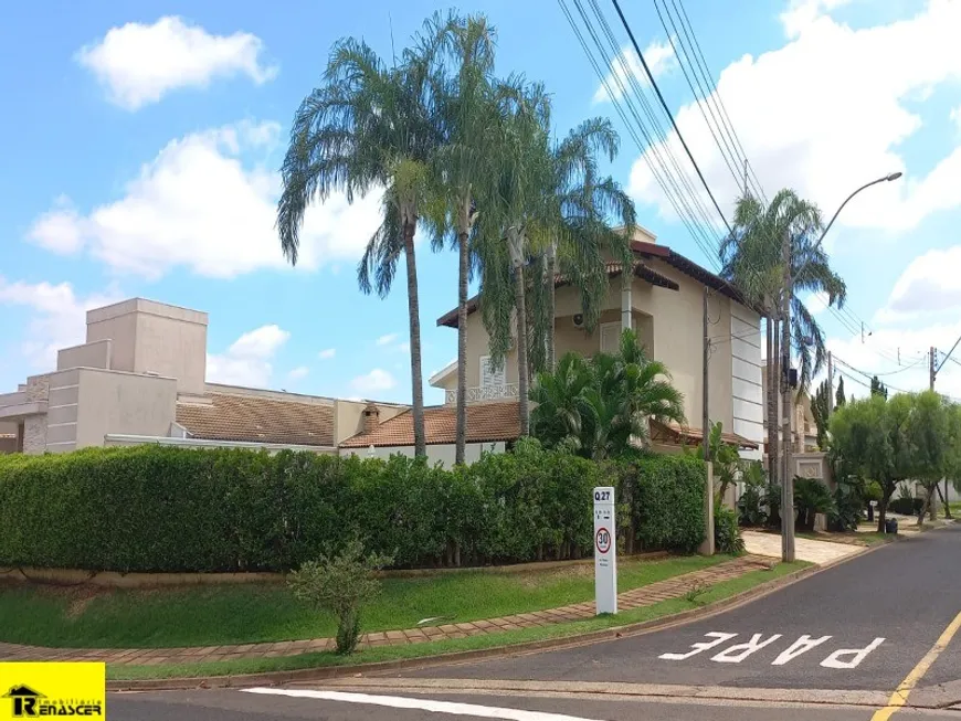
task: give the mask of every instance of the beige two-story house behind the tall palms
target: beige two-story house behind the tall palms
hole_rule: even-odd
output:
[[[638,229],[633,241],[634,266],[631,283],[623,283],[619,263],[609,263],[610,291],[593,331],[583,326],[578,293],[562,276],[556,278],[555,337],[558,357],[568,351],[591,356],[615,351],[624,328],[633,328],[652,358],[670,369],[675,386],[684,393],[687,425],[652,426],[656,446],[678,447],[701,438],[704,289],[709,289],[708,316],[710,356],[708,362],[708,414],[721,421],[726,441],[736,443],[743,457],[760,458],[763,441],[761,385],[761,322],[737,290],[714,273],[679,253],[656,243],[653,234]],[[488,363],[488,335],[477,298],[467,316],[467,441],[509,444],[519,433],[517,417],[517,356],[508,353],[497,372]],[[457,327],[456,308],[437,319],[437,325]],[[430,379],[445,392],[444,406],[427,409],[427,443],[453,443],[454,407],[457,396],[457,363],[451,363]],[[410,447],[413,430],[409,414],[374,425],[350,439],[358,449],[372,447],[387,455],[392,447]]]

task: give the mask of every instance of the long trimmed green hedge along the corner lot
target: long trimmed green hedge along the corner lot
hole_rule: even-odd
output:
[[[313,453],[161,446],[0,459],[0,565],[277,571],[360,536],[399,568],[590,555],[591,489],[616,485],[642,548],[694,550],[704,470],[602,466],[535,442],[444,470]]]

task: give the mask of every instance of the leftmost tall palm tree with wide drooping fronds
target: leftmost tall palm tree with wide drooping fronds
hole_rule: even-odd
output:
[[[425,216],[436,222],[431,160],[442,139],[435,107],[439,41],[430,26],[427,31],[393,67],[362,41],[335,43],[323,85],[304,98],[294,117],[277,204],[281,247],[296,264],[311,202],[323,202],[334,191],[344,191],[348,202],[383,191],[381,225],[358,265],[358,284],[363,293],[387,296],[403,256],[418,456],[426,455],[426,444],[414,233]]]

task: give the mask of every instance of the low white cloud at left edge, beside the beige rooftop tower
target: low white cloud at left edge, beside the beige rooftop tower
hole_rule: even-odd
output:
[[[0,277],[0,305],[29,309],[20,350],[33,370],[56,368],[56,351],[86,340],[86,311],[123,299],[116,287],[78,296],[70,283],[8,283]],[[7,310],[6,312],[17,312]]]

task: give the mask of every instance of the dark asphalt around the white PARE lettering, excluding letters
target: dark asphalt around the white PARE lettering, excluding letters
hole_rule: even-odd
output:
[[[426,668],[420,678],[615,681],[756,688],[891,691],[961,612],[961,527],[893,543],[827,569],[729,613],[663,632],[570,649]],[[693,644],[731,636],[688,658]],[[760,636],[756,636],[756,635]],[[773,636],[779,637],[770,640]],[[825,639],[784,661],[801,637]],[[770,643],[742,660],[720,651],[756,638]],[[877,643],[876,639],[884,640]],[[823,665],[835,651],[863,649],[854,668]],[[855,654],[836,661],[851,664]],[[923,685],[961,678],[961,635],[927,672]]]

